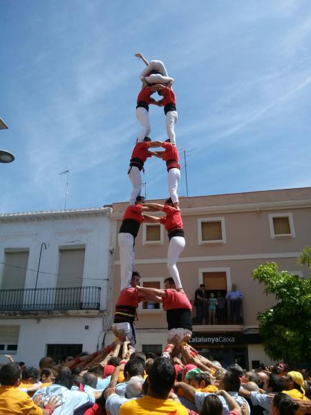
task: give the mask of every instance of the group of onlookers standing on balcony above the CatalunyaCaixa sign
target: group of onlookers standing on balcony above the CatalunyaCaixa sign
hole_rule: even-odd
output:
[[[194,293],[196,307],[196,324],[241,324],[241,304],[243,293],[236,284],[227,293],[223,291],[207,291],[204,284],[200,284]]]

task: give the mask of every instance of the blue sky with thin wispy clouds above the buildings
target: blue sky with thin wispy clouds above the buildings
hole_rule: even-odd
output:
[[[129,199],[147,59],[175,78],[189,196],[310,185],[309,0],[2,0],[0,212]],[[166,138],[152,107],[151,138]],[[182,163],[183,164],[183,163]],[[147,198],[167,197],[149,159]],[[178,194],[186,194],[185,169]]]

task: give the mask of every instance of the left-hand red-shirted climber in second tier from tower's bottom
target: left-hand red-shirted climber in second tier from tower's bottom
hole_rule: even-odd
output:
[[[142,212],[154,211],[154,209],[144,206],[144,197],[137,196],[135,205],[129,205],[124,212],[122,225],[117,241],[120,252],[120,276],[121,290],[130,286],[135,259],[134,243],[140,230],[140,224],[144,221]]]

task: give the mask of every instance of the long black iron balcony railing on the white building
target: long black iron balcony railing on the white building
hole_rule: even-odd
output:
[[[99,310],[100,287],[0,290],[0,311]]]

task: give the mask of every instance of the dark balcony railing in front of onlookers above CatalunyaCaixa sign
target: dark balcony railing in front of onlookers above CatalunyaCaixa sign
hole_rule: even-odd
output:
[[[244,322],[242,299],[223,302],[221,307],[216,306],[214,315],[209,315],[209,304],[204,301],[196,302],[192,310],[194,313],[193,323],[198,325],[233,325]]]

